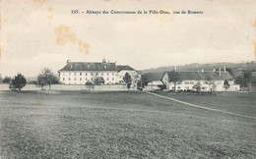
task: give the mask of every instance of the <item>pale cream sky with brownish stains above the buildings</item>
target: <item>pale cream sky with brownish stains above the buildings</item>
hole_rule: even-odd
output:
[[[188,10],[203,14],[173,14]],[[57,74],[67,60],[143,70],[256,59],[255,0],[0,0],[0,12],[2,76]]]

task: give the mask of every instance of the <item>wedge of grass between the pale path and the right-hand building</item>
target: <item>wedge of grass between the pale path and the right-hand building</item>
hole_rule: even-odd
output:
[[[207,108],[256,118],[256,93],[217,92],[216,95],[196,95],[160,91],[158,94]]]

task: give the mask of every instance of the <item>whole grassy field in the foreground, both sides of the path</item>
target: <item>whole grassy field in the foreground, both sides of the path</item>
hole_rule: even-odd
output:
[[[226,94],[163,95],[255,116]],[[0,158],[254,158],[255,122],[144,92],[0,91]]]

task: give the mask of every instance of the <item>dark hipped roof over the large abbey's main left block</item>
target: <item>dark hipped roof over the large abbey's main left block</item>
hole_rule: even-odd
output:
[[[115,63],[69,62],[59,71],[116,71]]]

